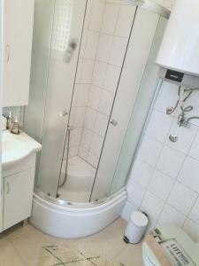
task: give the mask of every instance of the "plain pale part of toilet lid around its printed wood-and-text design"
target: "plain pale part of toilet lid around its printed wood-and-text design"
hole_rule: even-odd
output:
[[[161,232],[161,238],[176,239],[180,246],[186,251],[188,256],[195,262],[196,266],[199,266],[199,247],[192,239],[188,237],[188,234],[176,226],[158,226],[158,231]],[[145,266],[161,266],[157,261],[155,254],[150,249],[148,244],[143,241],[142,243],[142,258]]]

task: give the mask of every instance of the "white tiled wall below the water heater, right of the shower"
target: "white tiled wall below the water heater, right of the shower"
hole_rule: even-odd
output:
[[[142,137],[127,185],[128,200],[123,217],[134,209],[149,214],[150,227],[176,224],[197,240],[199,238],[199,120],[190,127],[179,127],[178,112],[165,114],[174,106],[178,88],[164,83],[158,93],[149,123]],[[183,98],[183,95],[181,95]],[[188,116],[199,115],[199,91],[184,106],[194,106]],[[171,134],[179,139],[169,140]]]

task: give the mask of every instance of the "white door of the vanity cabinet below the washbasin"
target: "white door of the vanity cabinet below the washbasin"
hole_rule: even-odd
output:
[[[4,178],[4,230],[31,215],[34,168]]]

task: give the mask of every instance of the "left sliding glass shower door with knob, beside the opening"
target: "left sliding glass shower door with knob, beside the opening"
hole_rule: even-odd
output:
[[[52,197],[57,194],[86,4],[86,0],[56,0],[54,5],[37,182]]]

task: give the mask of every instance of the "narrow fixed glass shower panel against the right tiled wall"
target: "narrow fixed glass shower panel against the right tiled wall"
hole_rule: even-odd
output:
[[[157,32],[149,53],[148,63],[143,74],[134,110],[126,131],[126,137],[119,155],[118,165],[113,176],[109,196],[118,192],[125,184],[129,170],[134,159],[134,154],[142,136],[142,129],[149,113],[149,107],[155,96],[158,85],[158,66],[156,65],[157,52],[161,44],[167,20],[161,18]]]

